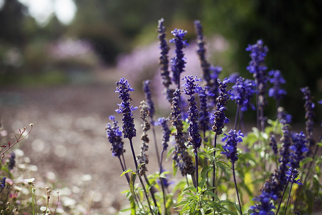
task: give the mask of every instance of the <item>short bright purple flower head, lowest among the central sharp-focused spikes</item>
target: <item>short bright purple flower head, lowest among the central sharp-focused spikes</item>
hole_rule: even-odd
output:
[[[226,140],[226,144],[222,147],[224,151],[221,154],[226,155],[232,164],[238,160],[237,143],[243,141],[241,137],[244,137],[244,134],[240,130],[236,131],[231,129],[228,135],[225,134],[225,137],[222,138],[222,141]]]

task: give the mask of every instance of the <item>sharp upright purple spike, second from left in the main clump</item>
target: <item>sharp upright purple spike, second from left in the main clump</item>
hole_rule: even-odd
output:
[[[123,113],[123,137],[132,139],[134,136],[136,136],[136,129],[134,127],[134,119],[132,117],[132,111],[136,110],[137,107],[130,106],[130,94],[129,91],[134,91],[133,88],[130,87],[130,84],[125,80],[124,78],[121,78],[119,82],[115,83],[116,90],[115,93],[119,93],[119,99],[122,100],[121,104],[118,104],[119,108],[115,111],[117,113]]]

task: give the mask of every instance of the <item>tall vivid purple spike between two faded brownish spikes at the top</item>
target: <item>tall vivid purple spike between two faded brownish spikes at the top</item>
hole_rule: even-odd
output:
[[[171,59],[172,63],[172,71],[173,71],[173,81],[175,84],[178,85],[178,89],[180,88],[180,74],[183,73],[185,68],[185,58],[183,53],[183,48],[188,46],[186,40],[184,40],[185,34],[187,31],[184,31],[182,29],[175,29],[171,31],[172,35],[175,36],[175,38],[171,39],[171,43],[175,43],[176,45],[176,56]]]

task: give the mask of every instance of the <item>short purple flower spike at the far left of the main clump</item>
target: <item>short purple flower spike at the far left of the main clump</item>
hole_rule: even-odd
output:
[[[119,130],[115,116],[111,115],[109,119],[113,120],[113,125],[111,123],[108,123],[105,129],[107,138],[112,145],[112,156],[120,157],[125,152],[125,150],[123,149],[124,142],[122,139],[122,132]]]

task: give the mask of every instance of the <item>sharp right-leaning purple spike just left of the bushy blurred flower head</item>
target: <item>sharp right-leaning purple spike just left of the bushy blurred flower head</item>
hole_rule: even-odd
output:
[[[231,95],[230,90],[226,91],[227,83],[230,80],[225,78],[222,82],[218,79],[220,94],[216,98],[216,107],[214,108],[215,112],[212,114],[210,120],[213,121],[214,125],[212,126],[212,130],[215,134],[222,134],[222,128],[224,127],[223,123],[228,123],[229,119],[225,116],[225,112],[227,110],[226,104],[229,100],[229,96]]]

